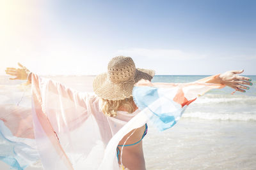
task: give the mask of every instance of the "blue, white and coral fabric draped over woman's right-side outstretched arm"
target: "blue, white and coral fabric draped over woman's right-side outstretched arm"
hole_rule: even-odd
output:
[[[169,129],[177,123],[189,104],[211,89],[225,85],[204,83],[215,76],[192,83],[151,83],[141,80],[133,89],[133,98],[140,110],[146,112],[148,120],[159,131]]]

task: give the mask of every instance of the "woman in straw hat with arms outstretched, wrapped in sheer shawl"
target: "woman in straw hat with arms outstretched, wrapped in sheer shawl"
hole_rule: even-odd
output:
[[[148,119],[154,120],[154,124],[160,130],[168,129],[179,120],[186,106],[195,101],[196,95],[202,95],[209,89],[221,88],[225,87],[225,85],[232,87],[236,91],[245,92],[245,90],[249,89],[246,85],[252,85],[250,78],[237,75],[243,73],[243,70],[228,71],[190,84],[150,83],[155,74],[154,71],[136,69],[131,57],[118,56],[109,62],[108,73],[98,75],[93,81],[95,94],[82,94],[51,80],[45,82],[44,79],[36,74],[30,73],[26,67],[21,64],[19,66],[21,67],[20,69],[8,67],[6,74],[15,76],[15,78],[10,78],[11,80],[28,79],[28,83],[32,83],[33,122],[35,124],[33,131],[35,131],[38,152],[45,169],[58,169],[60,167],[65,167],[65,169],[82,169],[83,167],[90,169],[116,169],[117,166],[115,164],[117,162],[123,169],[124,167],[127,169],[145,169],[141,140],[147,134],[147,124],[145,123]],[[141,79],[149,81],[140,81]],[[138,83],[138,81],[140,82]],[[138,88],[134,89],[132,96],[132,89],[135,83]],[[193,89],[195,86],[197,90]],[[157,94],[155,93],[157,88],[168,89],[162,90],[164,91],[163,95],[168,94],[172,101],[162,100],[165,98],[161,98],[160,90]],[[54,97],[55,95],[58,97]],[[157,103],[154,97],[161,99],[159,100],[160,102]],[[68,101],[65,101],[65,99],[68,99]],[[70,101],[72,101],[71,104]],[[179,106],[177,103],[179,103]],[[68,104],[70,104],[70,107],[65,107]],[[168,111],[164,112],[165,115],[163,113],[157,115],[159,110],[154,108],[154,104],[157,107],[161,104],[164,106],[173,104],[173,108],[177,108],[177,111],[166,115],[169,111],[167,107],[166,110]],[[56,108],[58,106],[62,110],[64,108],[65,111],[58,110]],[[80,109],[80,106],[86,108],[86,110]],[[70,108],[76,114],[68,111]],[[148,108],[150,108],[152,115],[148,113]],[[145,112],[145,114],[141,112]],[[90,120],[89,114],[93,115],[92,120]],[[38,127],[39,125],[40,127]],[[94,125],[98,130],[93,130],[92,134],[87,130],[87,136],[84,136],[84,138],[89,136],[92,139],[81,139],[90,147],[84,148],[81,145],[76,148],[76,146],[70,145],[70,143],[72,145],[74,143],[81,144],[80,141],[72,140],[74,134],[80,131],[77,129],[83,127],[84,131],[84,127],[88,129]],[[49,139],[49,141],[46,141],[45,138]],[[98,142],[95,143],[95,141]],[[53,149],[56,150],[61,160],[52,160],[54,157],[51,157],[51,153],[49,153],[51,145],[54,146]],[[44,146],[44,148],[40,146]],[[72,155],[72,152],[81,155],[79,148],[85,154],[85,158],[81,159],[81,161],[77,159],[76,155]],[[45,150],[48,152],[45,152]],[[115,150],[115,159],[110,158],[113,157],[113,150]],[[101,152],[104,152],[104,154],[100,155]],[[95,160],[95,158],[99,159],[99,161]],[[92,161],[92,164],[90,164],[89,160]],[[95,164],[99,164],[99,166],[95,166]]]

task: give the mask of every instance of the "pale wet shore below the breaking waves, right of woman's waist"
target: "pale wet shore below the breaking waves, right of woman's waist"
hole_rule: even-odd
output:
[[[164,132],[149,128],[147,169],[255,169],[255,133],[255,122],[195,118],[181,118]]]

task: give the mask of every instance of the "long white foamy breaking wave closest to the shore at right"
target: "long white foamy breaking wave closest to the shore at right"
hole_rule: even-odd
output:
[[[247,114],[246,114],[247,113]],[[184,113],[182,117],[184,118],[200,118],[206,120],[239,120],[239,121],[256,121],[256,112],[246,112],[246,113],[202,113],[202,112],[193,112],[193,113]],[[248,114],[249,113],[249,114]]]

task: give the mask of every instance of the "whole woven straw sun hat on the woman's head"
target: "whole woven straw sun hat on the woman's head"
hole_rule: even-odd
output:
[[[95,77],[93,91],[103,99],[122,100],[132,96],[134,83],[151,80],[154,74],[154,70],[136,69],[131,57],[117,56],[109,61],[107,73]]]

